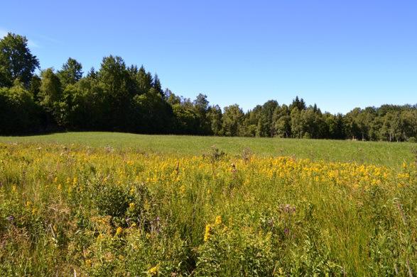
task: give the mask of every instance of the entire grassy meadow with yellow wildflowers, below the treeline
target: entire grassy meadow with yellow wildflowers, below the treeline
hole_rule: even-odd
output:
[[[0,276],[415,276],[413,147],[1,137]]]

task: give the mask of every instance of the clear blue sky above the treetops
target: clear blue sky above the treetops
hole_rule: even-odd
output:
[[[163,87],[247,111],[295,96],[323,111],[417,103],[417,1],[4,1],[0,35],[42,68],[119,55]]]

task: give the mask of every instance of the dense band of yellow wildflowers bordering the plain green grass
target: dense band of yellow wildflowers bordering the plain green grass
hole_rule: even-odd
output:
[[[416,176],[413,174],[416,171],[413,163],[404,163],[401,171],[394,171],[372,164],[310,161],[293,157],[251,157],[250,162],[241,157],[226,157],[213,163],[199,156],[178,157],[135,152],[117,154],[99,150],[89,152],[82,148],[57,154],[50,150],[35,151],[30,147],[21,148],[20,152],[14,154],[31,157],[31,164],[5,156],[10,168],[26,168],[28,173],[45,169],[43,175],[50,179],[50,183],[58,191],[66,189],[68,192],[82,191],[85,181],[81,178],[85,172],[101,176],[102,183],[111,182],[120,186],[129,183],[169,185],[180,195],[184,195],[193,186],[190,181],[194,181],[195,176],[205,176],[224,183],[234,181],[244,186],[251,183],[261,186],[268,181],[283,180],[352,188],[378,186],[386,182],[406,186]],[[56,176],[57,168],[65,169],[60,171],[65,175]],[[212,188],[207,187],[206,191],[210,194]],[[134,188],[130,192],[134,193]]]

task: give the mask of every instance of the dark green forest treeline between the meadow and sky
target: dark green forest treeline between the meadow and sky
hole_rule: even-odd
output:
[[[72,58],[40,70],[28,40],[9,33],[0,40],[0,135],[63,130],[415,142],[417,104],[333,115],[296,97],[246,113],[237,104],[222,110],[203,94],[191,101],[163,90],[158,75],[121,57],[104,57],[86,74]]]

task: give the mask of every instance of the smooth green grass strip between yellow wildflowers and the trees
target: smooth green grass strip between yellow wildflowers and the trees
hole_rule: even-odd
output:
[[[417,145],[401,142],[359,142],[345,140],[296,140],[250,137],[198,137],[178,135],[135,135],[117,132],[64,132],[28,137],[0,137],[7,143],[58,143],[90,147],[114,147],[128,151],[200,155],[215,145],[227,154],[241,154],[246,148],[263,157],[295,156],[315,161],[379,164],[398,169],[411,162]]]

